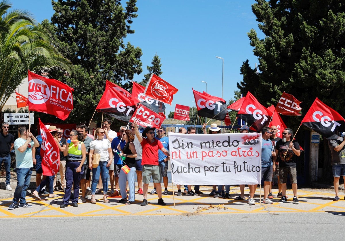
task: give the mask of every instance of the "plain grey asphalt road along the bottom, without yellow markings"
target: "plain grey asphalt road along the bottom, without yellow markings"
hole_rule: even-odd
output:
[[[338,240],[345,213],[0,219],[2,240]]]

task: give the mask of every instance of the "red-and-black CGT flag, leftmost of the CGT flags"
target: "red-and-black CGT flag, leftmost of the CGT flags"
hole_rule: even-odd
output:
[[[106,82],[106,89],[96,107],[98,111],[106,113],[120,121],[129,122],[134,113],[135,104],[130,98],[115,90]]]

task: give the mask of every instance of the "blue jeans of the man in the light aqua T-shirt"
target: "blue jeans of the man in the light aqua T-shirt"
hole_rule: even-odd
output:
[[[17,170],[17,187],[13,194],[13,203],[24,204],[26,203],[26,190],[30,185],[30,178],[32,173],[32,167],[30,168],[16,168]]]

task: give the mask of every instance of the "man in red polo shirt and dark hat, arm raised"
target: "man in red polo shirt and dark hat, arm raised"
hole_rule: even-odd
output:
[[[147,205],[147,190],[149,189],[149,183],[152,176],[153,182],[156,183],[156,190],[158,194],[158,205],[165,205],[162,199],[162,186],[160,185],[160,172],[158,166],[158,150],[161,150],[166,156],[169,156],[169,152],[163,147],[162,143],[155,139],[155,127],[146,127],[144,132],[140,135],[138,125],[134,121],[132,126],[135,127],[135,135],[137,136],[142,146],[142,181],[144,185],[142,187],[144,192],[144,200],[141,206]],[[146,138],[143,138],[146,137]]]

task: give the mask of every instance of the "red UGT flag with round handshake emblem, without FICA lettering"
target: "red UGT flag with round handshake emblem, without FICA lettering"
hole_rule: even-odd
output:
[[[159,76],[151,74],[144,94],[171,105],[172,96],[176,94],[177,91],[177,88],[175,88]]]

